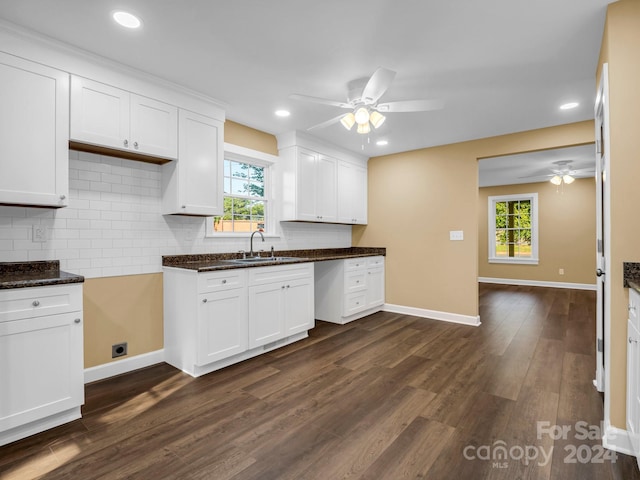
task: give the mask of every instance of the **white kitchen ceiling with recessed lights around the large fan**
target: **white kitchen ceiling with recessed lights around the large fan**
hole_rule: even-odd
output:
[[[343,110],[347,82],[397,72],[382,101],[440,98],[388,114],[371,135],[314,135],[368,156],[593,118],[609,0],[0,0],[0,18],[218,99],[230,120],[272,134]],[[115,25],[137,13],[140,31]],[[580,107],[560,111],[568,101]],[[285,108],[291,116],[274,116]],[[388,139],[386,147],[375,140]],[[363,143],[364,142],[364,143]]]

